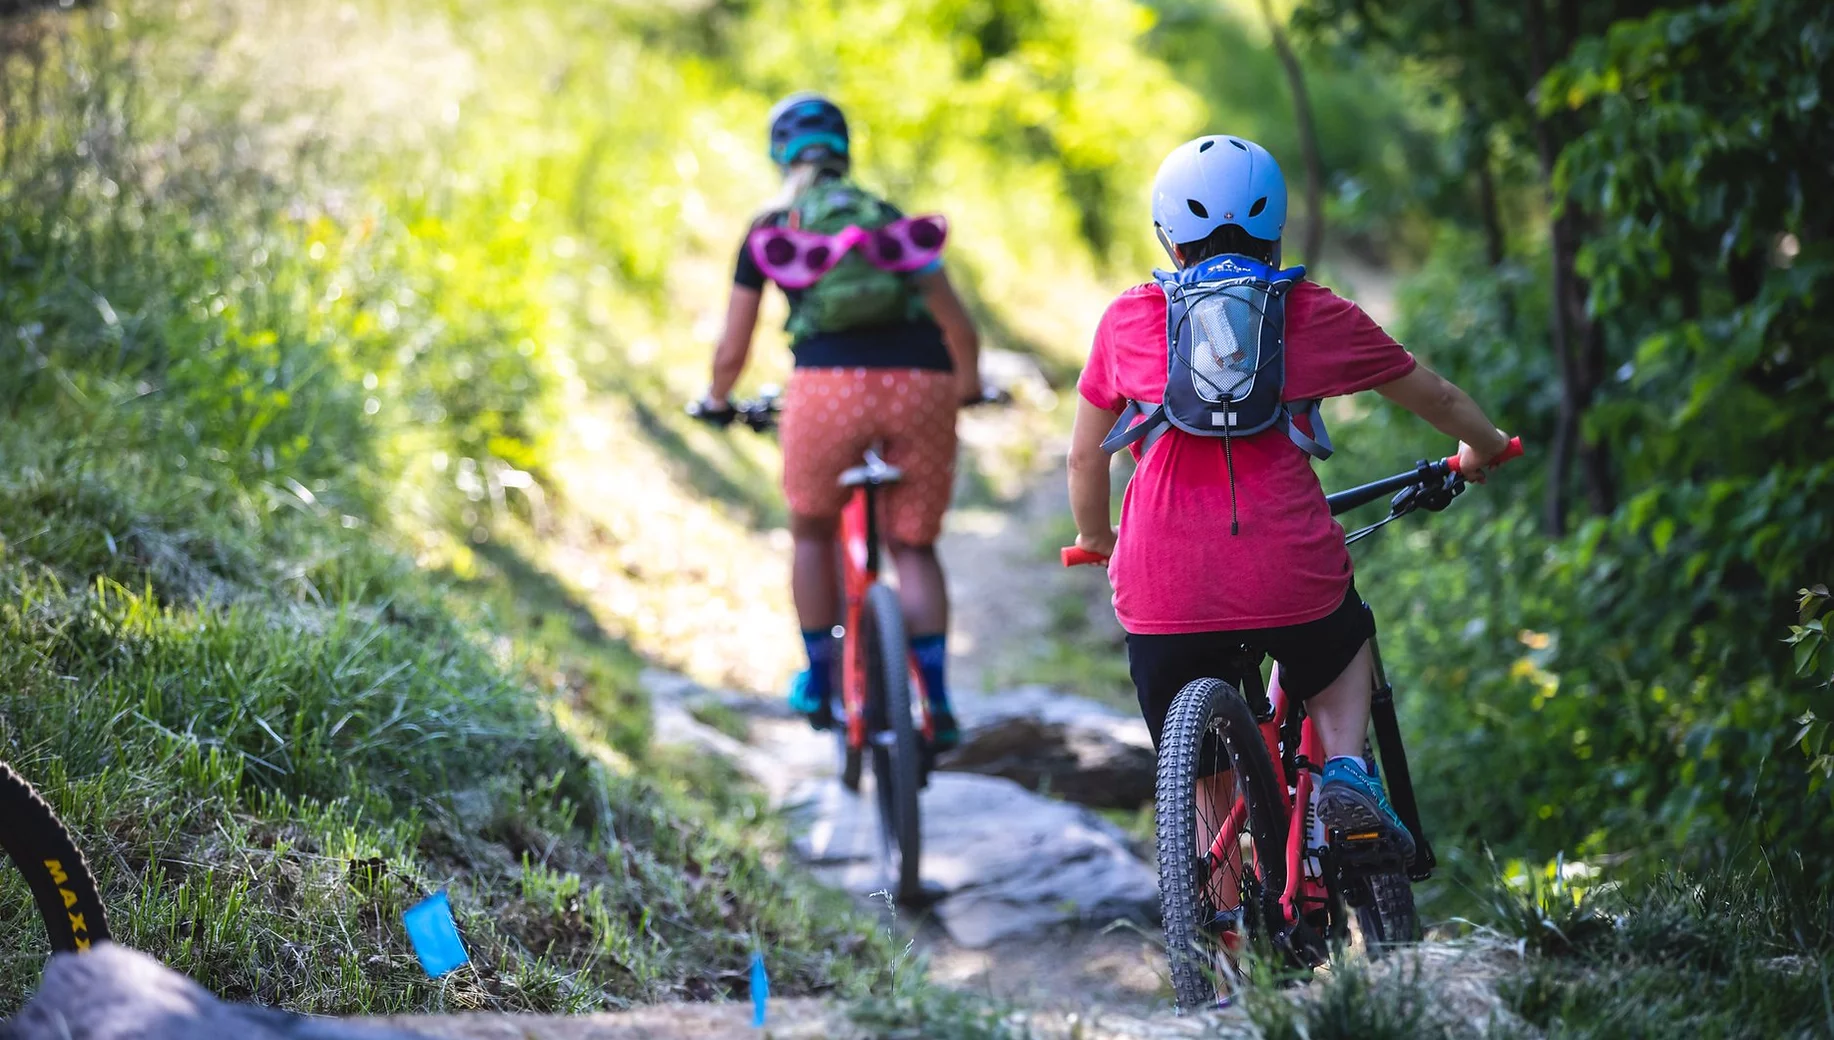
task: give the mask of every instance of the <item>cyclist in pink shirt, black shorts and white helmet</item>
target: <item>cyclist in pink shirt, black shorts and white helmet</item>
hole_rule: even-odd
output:
[[[1179,270],[1216,257],[1278,266],[1286,183],[1265,149],[1231,136],[1174,150],[1154,182],[1154,227]],[[1363,308],[1300,281],[1284,297],[1280,400],[1376,391],[1456,437],[1464,471],[1482,481],[1509,438],[1458,387],[1421,365]],[[1166,429],[1132,446],[1137,468],[1110,521],[1104,435],[1130,402],[1166,400],[1166,295],[1157,282],[1115,299],[1095,330],[1077,387],[1069,451],[1077,545],[1110,558],[1115,614],[1154,743],[1177,691],[1220,675],[1236,647],[1265,651],[1306,712],[1328,761],[1319,811],[1331,829],[1377,829],[1401,858],[1412,836],[1363,758],[1374,622],[1352,581],[1308,453],[1282,429],[1231,440]],[[1302,418],[1295,422],[1306,422]],[[1150,448],[1143,451],[1143,444]],[[1214,756],[1207,756],[1216,761]],[[1199,809],[1227,807],[1232,783],[1199,785]],[[1229,904],[1234,901],[1231,899]],[[1225,906],[1225,902],[1218,902]]]

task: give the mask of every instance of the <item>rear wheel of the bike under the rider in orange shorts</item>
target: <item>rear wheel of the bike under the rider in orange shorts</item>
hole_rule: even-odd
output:
[[[917,816],[923,761],[911,714],[910,642],[904,638],[904,607],[899,605],[897,592],[889,585],[869,587],[860,622],[878,827],[899,901],[917,902],[923,895],[923,827]]]

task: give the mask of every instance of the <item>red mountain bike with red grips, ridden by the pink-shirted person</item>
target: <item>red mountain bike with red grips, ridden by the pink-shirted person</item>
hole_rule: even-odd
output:
[[[1498,462],[1520,453],[1522,440],[1515,438]],[[1443,510],[1464,490],[1458,457],[1449,457],[1421,460],[1407,473],[1337,492],[1326,501],[1331,515],[1339,515],[1394,495],[1387,517],[1344,537],[1353,543],[1414,510]],[[1064,550],[1066,567],[1100,561],[1080,548]],[[1236,961],[1242,939],[1264,943],[1300,967],[1326,963],[1331,946],[1350,937],[1352,915],[1372,952],[1420,939],[1412,882],[1431,877],[1436,860],[1414,802],[1394,686],[1374,638],[1370,651],[1376,688],[1370,723],[1374,750],[1381,756],[1379,774],[1390,803],[1414,835],[1412,862],[1387,864],[1374,873],[1350,864],[1374,858],[1368,849],[1379,844],[1377,835],[1324,833],[1317,811],[1324,750],[1304,706],[1289,703],[1280,690],[1278,668],[1264,684],[1262,655],[1242,647],[1225,675],[1199,679],[1172,701],[1159,741],[1155,809],[1159,908],[1179,1007],[1216,1007],[1232,1000],[1242,983]],[[1234,778],[1234,800],[1216,820],[1201,811],[1198,778],[1225,772]],[[1212,895],[1218,884],[1240,888],[1240,934],[1216,924],[1227,919],[1218,913]]]

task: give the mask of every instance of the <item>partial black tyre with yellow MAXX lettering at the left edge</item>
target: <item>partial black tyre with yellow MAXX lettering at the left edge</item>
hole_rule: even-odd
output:
[[[26,778],[0,763],[0,849],[26,875],[53,954],[108,937],[108,917],[83,851]]]

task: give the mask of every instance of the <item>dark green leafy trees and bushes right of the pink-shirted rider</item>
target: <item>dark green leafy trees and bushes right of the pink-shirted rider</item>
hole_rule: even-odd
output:
[[[1443,209],[1401,332],[1530,446],[1359,559],[1414,688],[1429,827],[1465,849],[1689,862],[1834,840],[1827,800],[1803,798],[1819,759],[1792,747],[1819,739],[1819,691],[1775,638],[1801,576],[1834,567],[1817,253],[1834,211],[1795,172],[1834,156],[1812,105],[1834,73],[1828,11],[1317,0],[1300,22],[1447,88],[1465,202]],[[1487,213],[1469,205],[1482,178]],[[1546,347],[1555,215],[1574,235],[1564,361]],[[1563,413],[1594,515],[1550,537],[1537,504],[1572,481],[1550,466]],[[1331,470],[1425,455],[1421,433],[1376,411]]]

